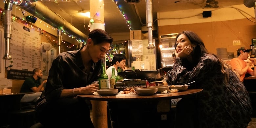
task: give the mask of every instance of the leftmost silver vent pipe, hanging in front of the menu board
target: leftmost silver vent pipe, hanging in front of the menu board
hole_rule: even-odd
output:
[[[10,52],[10,40],[11,40],[11,10],[13,1],[5,1],[5,22],[4,22],[4,38],[5,38],[5,55],[3,59],[12,59]]]

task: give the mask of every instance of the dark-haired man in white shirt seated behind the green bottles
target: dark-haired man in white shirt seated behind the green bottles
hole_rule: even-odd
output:
[[[106,70],[106,74],[108,75],[109,85],[110,85],[110,77],[112,75],[112,68],[115,68],[115,75],[117,76],[117,67],[120,67],[121,70],[123,71],[127,70],[127,67],[125,67],[125,61],[126,61],[126,57],[124,54],[116,54],[113,57],[113,60],[112,60],[113,65]]]

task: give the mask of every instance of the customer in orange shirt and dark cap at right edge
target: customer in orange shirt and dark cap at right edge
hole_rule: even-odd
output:
[[[250,50],[246,49],[245,47],[241,47],[238,49],[237,52],[238,57],[230,60],[230,65],[232,66],[232,69],[240,75],[241,81],[244,81],[245,74],[256,76],[256,69],[254,68],[254,70],[252,70],[250,68],[251,63],[254,63],[254,65],[256,65],[256,59],[250,58],[251,62],[244,61],[247,60],[249,52]]]

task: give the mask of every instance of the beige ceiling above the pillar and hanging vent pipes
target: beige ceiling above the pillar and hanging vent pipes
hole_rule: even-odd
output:
[[[81,10],[90,10],[90,0],[40,0],[37,2],[47,6],[85,35],[90,32],[88,27],[90,18],[78,13]],[[243,0],[152,0],[152,3],[154,21],[157,19],[157,12],[231,6],[243,4]],[[145,0],[137,4],[128,4],[124,0],[104,0],[104,23],[107,32],[112,34],[130,31],[126,19],[117,7],[121,7],[121,12],[131,21],[132,30],[140,30],[141,26],[145,26]],[[34,15],[37,17],[36,13]],[[157,26],[157,22],[154,23],[154,26]]]

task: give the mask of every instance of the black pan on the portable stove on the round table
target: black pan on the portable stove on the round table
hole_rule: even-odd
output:
[[[159,74],[159,70],[156,71],[133,71],[133,70],[125,70],[124,72],[119,72],[117,75],[126,78],[126,79],[147,79],[156,76]]]

